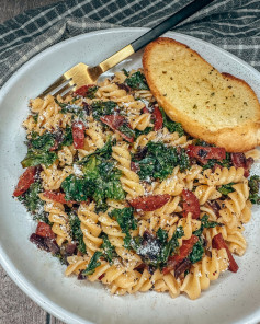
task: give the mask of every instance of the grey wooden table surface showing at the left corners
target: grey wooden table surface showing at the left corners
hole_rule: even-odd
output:
[[[25,10],[57,0],[0,0],[0,24]],[[0,36],[1,37],[1,36]],[[63,324],[35,304],[0,266],[0,324]]]

